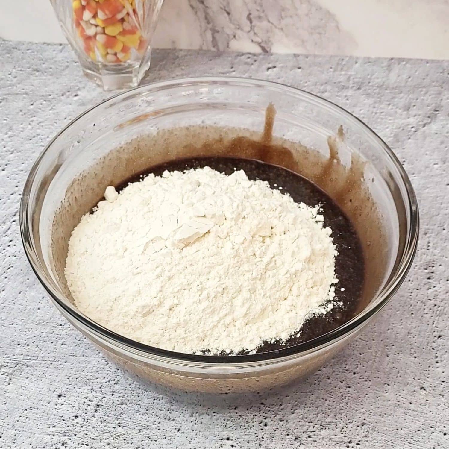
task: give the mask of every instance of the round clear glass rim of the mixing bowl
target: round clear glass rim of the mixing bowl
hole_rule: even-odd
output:
[[[397,264],[396,272],[391,273],[390,278],[387,284],[383,287],[383,289],[379,292],[377,297],[371,301],[371,303],[356,317],[353,317],[350,321],[347,321],[343,325],[338,328],[320,335],[317,338],[312,340],[308,340],[304,343],[299,343],[297,345],[290,346],[288,348],[283,348],[276,351],[270,352],[262,352],[259,354],[249,354],[249,355],[225,355],[225,356],[210,356],[210,355],[197,355],[197,354],[186,354],[181,352],[168,351],[165,349],[154,348],[152,346],[136,342],[134,340],[123,337],[122,335],[116,334],[111,330],[106,329],[103,326],[98,325],[94,321],[91,321],[87,317],[84,317],[80,313],[76,311],[73,306],[69,306],[66,302],[59,297],[56,291],[48,285],[48,282],[41,275],[41,271],[43,270],[42,265],[40,264],[39,257],[34,251],[34,245],[31,237],[31,223],[29,220],[28,210],[28,200],[30,197],[31,189],[35,182],[35,175],[37,173],[39,164],[41,160],[46,156],[46,154],[52,150],[53,143],[57,140],[59,136],[61,136],[68,128],[70,128],[75,122],[81,119],[84,115],[89,112],[100,108],[101,106],[107,106],[108,103],[112,103],[114,100],[119,99],[121,97],[126,98],[132,95],[138,95],[139,93],[148,93],[148,92],[158,92],[161,90],[165,90],[167,88],[177,88],[177,87],[188,87],[195,85],[235,85],[239,87],[262,87],[272,90],[274,92],[282,92],[285,94],[289,94],[293,97],[301,99],[307,99],[308,101],[312,101],[318,106],[325,107],[330,111],[333,111],[335,114],[340,114],[344,116],[345,119],[351,123],[351,125],[358,128],[359,132],[363,132],[366,136],[370,136],[371,139],[374,139],[379,147],[383,150],[384,157],[389,158],[390,161],[394,164],[396,169],[400,174],[401,181],[405,187],[405,191],[407,194],[405,207],[408,208],[408,213],[410,217],[409,229],[405,239],[404,251],[401,254],[401,259]],[[301,354],[305,352],[313,351],[314,349],[318,349],[320,347],[326,346],[334,341],[337,341],[343,338],[346,335],[349,335],[353,330],[362,326],[366,321],[368,321],[371,317],[373,317],[376,313],[378,313],[387,302],[392,298],[397,289],[401,286],[402,282],[405,279],[405,276],[409,272],[411,264],[414,259],[414,255],[416,253],[417,245],[418,245],[418,234],[419,234],[419,212],[418,212],[418,203],[416,199],[416,195],[413,189],[413,186],[409,180],[407,173],[402,167],[396,155],[390,149],[390,147],[364,122],[358,119],[355,115],[351,114],[347,110],[342,107],[336,105],[335,103],[326,100],[318,95],[307,92],[305,90],[299,88],[293,88],[287,86],[282,83],[276,83],[273,81],[266,81],[262,79],[247,79],[243,77],[194,77],[194,78],[182,78],[182,79],[170,79],[162,82],[155,82],[150,84],[145,84],[143,86],[138,86],[136,88],[128,89],[124,92],[119,92],[111,97],[106,98],[106,100],[101,101],[95,106],[85,110],[83,113],[79,114],[78,117],[73,119],[70,123],[68,123],[64,128],[59,131],[56,136],[45,146],[44,150],[41,152],[39,157],[36,159],[35,163],[31,167],[31,171],[26,179],[25,186],[22,192],[22,198],[20,202],[20,210],[19,210],[19,219],[20,219],[20,233],[22,237],[22,244],[25,249],[26,257],[31,264],[31,268],[33,269],[36,277],[39,279],[40,283],[44,286],[45,290],[51,296],[51,298],[56,302],[57,306],[62,308],[62,310],[70,315],[75,322],[78,322],[81,325],[86,326],[89,330],[93,331],[94,334],[101,335],[103,338],[112,340],[113,343],[118,344],[121,347],[127,348],[132,352],[137,352],[140,355],[143,354],[145,357],[162,357],[165,360],[171,361],[179,361],[179,362],[198,362],[200,365],[240,365],[241,364],[259,364],[257,362],[264,361],[275,361],[276,359],[292,357],[292,356],[301,356]],[[68,302],[67,302],[68,303]],[[252,362],[252,363],[251,363]],[[196,363],[195,363],[196,364]]]

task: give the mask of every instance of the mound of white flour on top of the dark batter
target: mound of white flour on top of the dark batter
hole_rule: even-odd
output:
[[[324,314],[336,250],[319,207],[209,167],[113,187],[74,229],[66,279],[97,323],[158,348],[254,352]]]

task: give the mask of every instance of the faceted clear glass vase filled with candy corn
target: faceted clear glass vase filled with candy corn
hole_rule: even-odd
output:
[[[163,0],[50,1],[89,79],[105,90],[140,83]]]

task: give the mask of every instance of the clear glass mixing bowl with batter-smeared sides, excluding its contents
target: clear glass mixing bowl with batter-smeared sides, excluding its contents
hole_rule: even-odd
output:
[[[240,154],[232,139],[238,135],[260,139],[270,103],[276,109],[274,150]],[[263,138],[269,139],[269,127],[265,131]],[[216,145],[204,144],[211,139]],[[296,170],[350,216],[366,260],[357,315],[325,335],[289,348],[207,356],[132,341],[80,313],[63,273],[67,242],[106,186],[118,185],[155,163],[186,154],[224,154],[224,148],[226,155],[269,157],[269,162]],[[139,377],[165,386],[242,392],[304,377],[353,339],[404,280],[416,251],[419,219],[413,188],[398,159],[352,114],[281,84],[195,78],[132,89],[73,120],[32,167],[22,195],[20,225],[26,255],[57,309],[107,356]]]

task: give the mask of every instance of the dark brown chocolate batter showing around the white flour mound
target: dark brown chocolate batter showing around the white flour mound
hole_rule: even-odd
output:
[[[326,315],[310,317],[302,326],[299,335],[291,336],[284,342],[265,342],[257,348],[256,352],[273,351],[303,343],[334,330],[354,317],[361,298],[365,271],[360,240],[352,223],[337,204],[303,176],[285,168],[252,159],[198,157],[178,159],[151,167],[144,173],[124,181],[116,189],[123,189],[128,183],[135,182],[149,173],[160,176],[165,170],[184,171],[206,166],[227,175],[236,169],[243,170],[249,179],[268,181],[272,189],[281,189],[282,193],[290,194],[295,202],[304,202],[308,206],[320,204],[324,225],[332,229],[332,237],[338,251],[335,259],[335,273],[339,279],[335,285],[337,305]],[[270,292],[267,292],[267,295],[269,294]],[[239,354],[243,353],[239,352]]]

